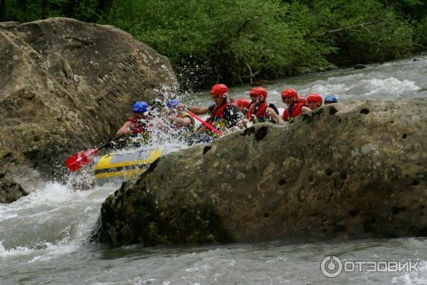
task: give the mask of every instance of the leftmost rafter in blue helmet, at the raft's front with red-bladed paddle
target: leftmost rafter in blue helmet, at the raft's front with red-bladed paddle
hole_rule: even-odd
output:
[[[130,136],[127,146],[139,147],[149,139],[149,130],[153,127],[153,117],[145,114],[148,111],[147,102],[136,102],[132,106],[132,117],[117,131],[116,136],[122,134]]]

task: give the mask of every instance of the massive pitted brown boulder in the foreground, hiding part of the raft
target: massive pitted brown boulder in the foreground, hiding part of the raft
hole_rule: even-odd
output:
[[[427,235],[427,100],[331,104],[159,158],[105,200],[113,245]]]

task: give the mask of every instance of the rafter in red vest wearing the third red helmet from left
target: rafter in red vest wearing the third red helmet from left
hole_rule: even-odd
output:
[[[264,87],[254,87],[249,92],[251,97],[251,108],[246,113],[246,119],[253,124],[261,122],[271,122],[285,124],[279,116],[278,108],[273,103],[267,102],[267,90]]]

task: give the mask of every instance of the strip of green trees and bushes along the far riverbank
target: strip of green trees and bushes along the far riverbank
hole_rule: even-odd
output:
[[[270,80],[427,50],[423,0],[0,0],[2,21],[68,16],[167,55],[184,87]]]

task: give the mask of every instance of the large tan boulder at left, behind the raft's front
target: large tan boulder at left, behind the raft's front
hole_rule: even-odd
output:
[[[0,160],[16,176],[28,166],[55,173],[112,136],[133,102],[176,88],[164,56],[115,27],[70,18],[0,24],[0,82]]]

